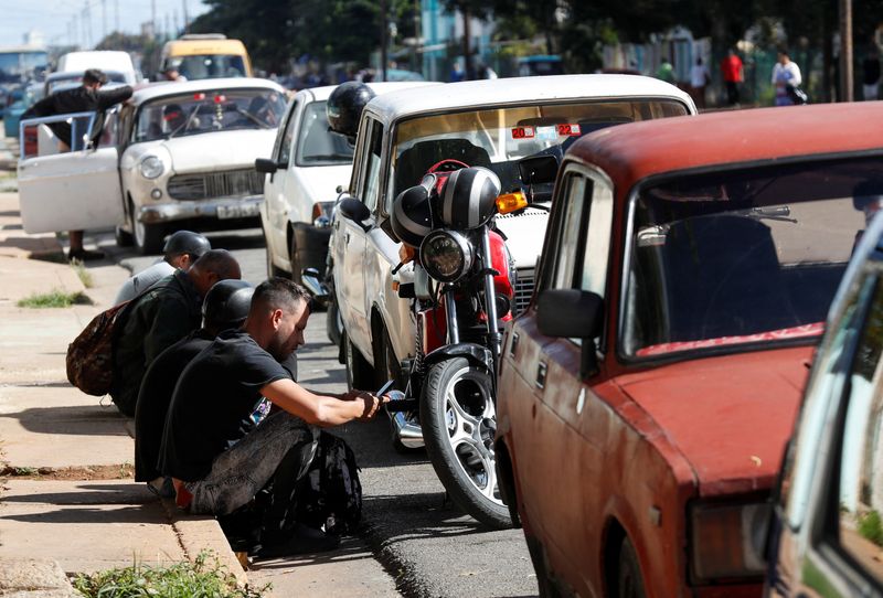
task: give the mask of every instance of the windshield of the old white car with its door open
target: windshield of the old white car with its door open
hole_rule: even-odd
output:
[[[273,89],[212,89],[163,96],[138,110],[134,142],[235,129],[276,128],[285,97]]]

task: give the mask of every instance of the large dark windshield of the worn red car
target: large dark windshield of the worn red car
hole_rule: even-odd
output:
[[[778,164],[641,190],[623,345],[646,357],[818,337],[883,205],[883,160]]]

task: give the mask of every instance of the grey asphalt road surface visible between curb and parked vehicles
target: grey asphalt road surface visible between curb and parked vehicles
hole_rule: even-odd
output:
[[[230,249],[243,278],[266,278],[260,231],[206,234],[213,247]],[[138,271],[158,256],[135,256],[97,236],[100,248]],[[307,344],[298,351],[299,382],[317,391],[342,392],[344,370],[325,333],[325,313],[312,316]],[[449,501],[424,451],[400,455],[385,416],[333,430],[355,451],[364,493],[363,536],[405,596],[536,596],[536,577],[520,530],[491,532],[462,515]]]

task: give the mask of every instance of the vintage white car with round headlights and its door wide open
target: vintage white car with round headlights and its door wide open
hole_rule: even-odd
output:
[[[264,191],[254,161],[270,152],[285,105],[285,90],[258,78],[138,89],[106,116],[95,147],[22,156],[24,228],[116,226],[119,245],[155,254],[179,228],[254,225]]]

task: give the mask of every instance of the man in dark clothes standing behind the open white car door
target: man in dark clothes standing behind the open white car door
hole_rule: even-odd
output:
[[[45,116],[56,116],[74,113],[103,113],[107,108],[125,102],[131,97],[132,88],[128,85],[117,87],[107,92],[102,92],[102,86],[107,83],[107,75],[98,68],[88,68],[83,74],[83,85],[74,89],[56,92],[31,106],[21,119],[40,118]],[[74,143],[73,149],[82,149],[82,139],[71,139],[72,127],[68,122],[53,122],[49,125],[52,132],[58,138],[61,151],[71,151],[70,143]],[[64,201],[64,197],[60,197]],[[70,231],[67,250],[68,259],[100,259],[104,257],[102,252],[87,252],[83,248],[83,231]]]

